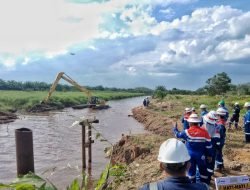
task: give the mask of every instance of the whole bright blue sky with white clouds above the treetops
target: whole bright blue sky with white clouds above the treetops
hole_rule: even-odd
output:
[[[0,1],[0,79],[195,90],[249,82],[248,0]],[[63,83],[63,82],[62,82]]]

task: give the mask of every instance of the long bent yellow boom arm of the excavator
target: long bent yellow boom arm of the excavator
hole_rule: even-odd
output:
[[[45,100],[43,101],[43,103],[45,103],[45,104],[48,103],[48,101],[49,101],[49,99],[50,99],[52,93],[55,91],[56,86],[58,85],[60,79],[64,79],[64,80],[67,81],[68,83],[70,83],[70,84],[72,84],[73,86],[75,86],[76,88],[78,88],[81,92],[84,92],[84,93],[87,95],[87,97],[88,97],[88,102],[91,102],[92,93],[91,93],[88,89],[86,89],[86,88],[80,86],[77,82],[75,82],[72,78],[70,78],[70,77],[69,77],[68,75],[66,75],[64,72],[60,72],[60,73],[58,73],[58,75],[57,75],[57,77],[56,77],[54,83],[51,85],[50,90],[49,90],[49,93],[48,93],[48,96],[45,98]]]

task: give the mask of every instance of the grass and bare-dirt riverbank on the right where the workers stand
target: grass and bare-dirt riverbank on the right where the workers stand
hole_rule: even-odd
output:
[[[181,115],[185,107],[196,107],[200,113],[199,105],[207,104],[209,110],[216,110],[217,103],[221,99],[219,96],[182,96],[171,95],[164,99],[153,99],[148,108],[138,107],[133,109],[133,116],[141,122],[145,129],[150,131],[143,135],[133,135],[123,138],[117,143],[117,150],[114,153],[114,160],[126,164],[124,177],[113,180],[111,189],[138,189],[139,186],[147,182],[157,181],[166,176],[159,169],[157,155],[160,144],[168,138],[174,137],[172,128],[175,122],[178,123],[179,130],[182,129],[180,122]],[[232,115],[234,102],[239,102],[241,108],[244,102],[250,101],[250,96],[228,96],[224,98],[226,106]],[[245,109],[241,110],[240,130],[234,128],[227,130],[226,144],[224,147],[223,173],[215,173],[214,177],[230,175],[250,175],[250,144],[244,142],[242,129],[242,115]],[[143,152],[143,149],[150,152]],[[128,159],[129,158],[129,159]],[[211,188],[214,189],[212,182]]]

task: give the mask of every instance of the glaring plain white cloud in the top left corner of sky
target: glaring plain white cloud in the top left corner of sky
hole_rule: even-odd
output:
[[[0,1],[0,53],[15,59],[32,51],[54,56],[76,43],[100,36],[102,15],[128,0],[73,4],[64,0]]]

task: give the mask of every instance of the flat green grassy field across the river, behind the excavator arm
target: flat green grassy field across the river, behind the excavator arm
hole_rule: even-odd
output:
[[[115,100],[142,96],[142,93],[114,92],[114,91],[93,91],[94,96],[104,100]],[[0,90],[0,110],[11,109],[26,110],[44,100],[48,95],[47,91],[7,91]],[[58,102],[64,106],[72,106],[87,102],[87,97],[82,92],[54,92],[51,101]]]

